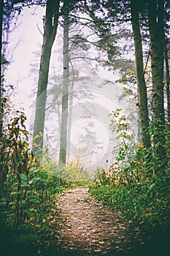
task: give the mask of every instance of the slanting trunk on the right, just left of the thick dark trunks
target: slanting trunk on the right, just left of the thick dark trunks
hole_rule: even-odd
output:
[[[139,25],[139,12],[136,0],[131,0],[131,23],[134,36],[136,76],[139,91],[139,116],[142,127],[142,142],[145,148],[149,148],[151,146],[151,143],[150,134],[147,131],[147,128],[149,127],[147,108],[147,86],[144,80],[142,38]]]

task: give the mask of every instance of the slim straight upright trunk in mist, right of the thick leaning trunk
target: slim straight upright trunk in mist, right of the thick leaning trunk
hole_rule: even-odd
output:
[[[69,103],[69,9],[63,8],[63,88],[59,163],[66,165]]]

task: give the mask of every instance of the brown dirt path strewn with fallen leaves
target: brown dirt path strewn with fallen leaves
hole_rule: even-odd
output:
[[[63,255],[127,255],[136,244],[120,211],[90,197],[87,187],[58,196],[52,223],[51,237]]]

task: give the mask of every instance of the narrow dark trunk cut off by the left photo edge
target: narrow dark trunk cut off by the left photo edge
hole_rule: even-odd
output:
[[[3,11],[4,11],[4,1],[0,1],[0,138],[2,132],[2,116],[3,116],[3,109],[2,109],[2,99],[1,99],[1,48],[2,48],[2,24],[3,24]]]

